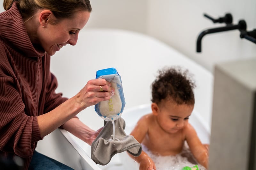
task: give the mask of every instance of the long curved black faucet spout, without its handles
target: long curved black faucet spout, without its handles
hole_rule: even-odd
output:
[[[240,20],[237,25],[229,24],[229,25],[226,25],[226,26],[223,26],[223,27],[211,28],[211,29],[207,29],[207,30],[202,31],[198,35],[197,40],[196,40],[196,52],[197,53],[202,52],[202,39],[205,35],[215,33],[215,32],[223,32],[223,31],[230,31],[230,30],[236,30],[236,29],[238,29],[240,31],[241,30],[246,30],[245,21]]]

